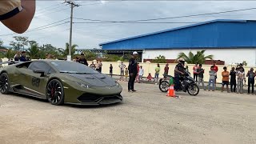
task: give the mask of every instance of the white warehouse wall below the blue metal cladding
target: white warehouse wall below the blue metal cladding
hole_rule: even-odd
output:
[[[191,51],[193,54],[196,54],[198,50]],[[142,54],[142,59],[154,59],[159,55],[164,55],[166,59],[175,59],[180,52],[188,54],[190,50],[145,50]],[[207,49],[205,54],[213,54],[214,60],[225,61],[226,65],[246,61],[248,63],[247,66],[256,66],[256,49]]]

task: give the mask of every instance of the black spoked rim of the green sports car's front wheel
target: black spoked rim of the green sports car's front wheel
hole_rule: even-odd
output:
[[[47,98],[48,100],[56,104],[62,99],[62,87],[57,81],[52,81],[47,86]]]

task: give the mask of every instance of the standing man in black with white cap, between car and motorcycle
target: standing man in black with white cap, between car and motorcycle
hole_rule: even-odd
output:
[[[138,74],[138,70],[137,70],[138,63],[137,63],[136,58],[138,58],[138,53],[136,51],[134,51],[132,54],[132,58],[130,58],[130,60],[129,60],[129,66],[128,66],[128,70],[129,70],[128,92],[130,92],[130,90],[132,92],[136,91],[136,90],[134,90],[134,82],[135,82],[135,78]]]

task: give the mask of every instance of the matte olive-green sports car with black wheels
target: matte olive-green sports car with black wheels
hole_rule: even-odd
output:
[[[0,91],[47,99],[53,105],[122,102],[122,86],[113,78],[81,63],[61,60],[13,62],[4,66],[0,72]]]

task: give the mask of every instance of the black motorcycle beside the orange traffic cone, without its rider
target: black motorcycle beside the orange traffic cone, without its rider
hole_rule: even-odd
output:
[[[169,79],[173,78],[170,75],[164,75],[165,78],[161,78],[160,82],[159,82],[159,89],[162,92],[167,92],[168,88],[169,88]],[[181,85],[180,88],[178,90],[175,91],[184,91],[186,93],[186,91],[190,94],[190,95],[198,95],[199,93],[199,87],[196,84],[196,82],[194,81],[194,78],[190,77],[190,73],[186,72],[181,78]],[[174,85],[175,85],[175,81],[174,81]]]

